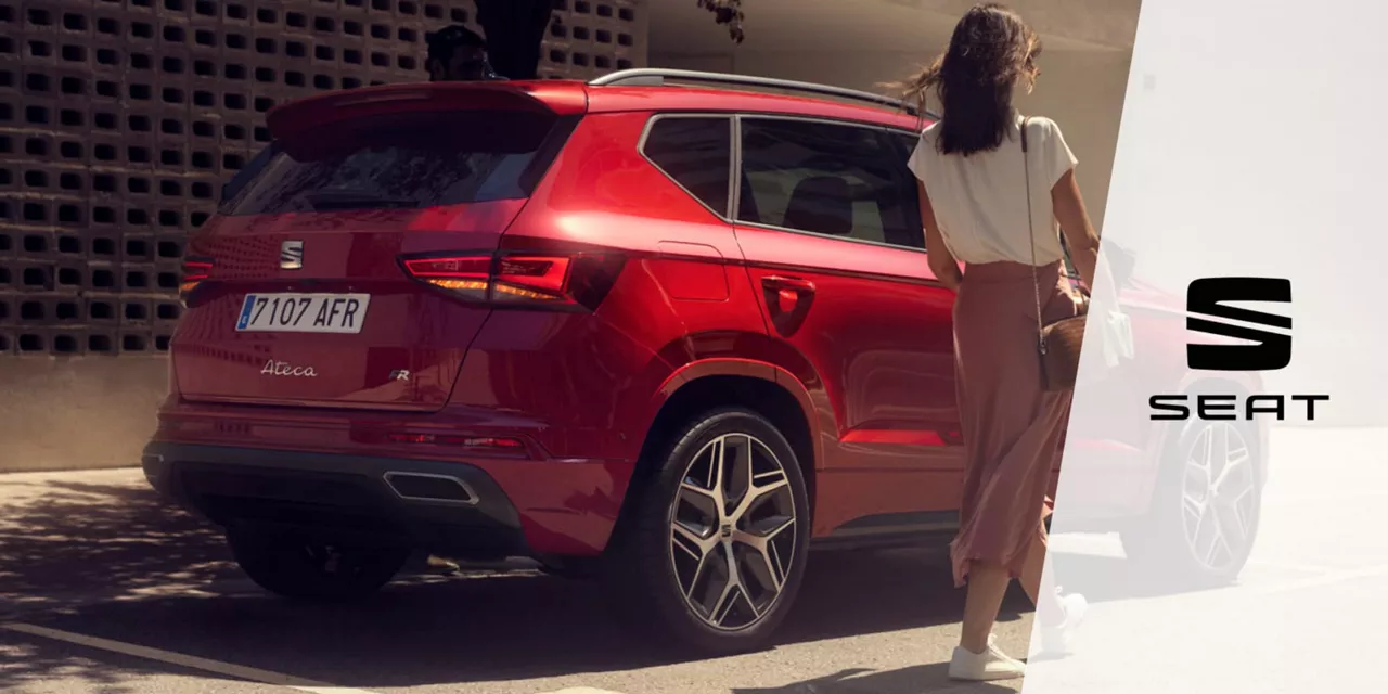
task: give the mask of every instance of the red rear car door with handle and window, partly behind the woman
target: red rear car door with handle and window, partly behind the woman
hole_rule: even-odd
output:
[[[737,237],[768,332],[820,407],[816,529],[949,509],[952,293],[888,130],[740,115]]]

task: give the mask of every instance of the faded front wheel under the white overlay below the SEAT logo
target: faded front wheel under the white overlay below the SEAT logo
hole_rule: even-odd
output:
[[[1184,587],[1237,580],[1258,537],[1259,455],[1256,430],[1246,422],[1191,421],[1174,432],[1162,457],[1151,511],[1120,532],[1128,558],[1152,579]],[[1230,471],[1217,494],[1203,489],[1208,477],[1202,469],[1214,479]]]

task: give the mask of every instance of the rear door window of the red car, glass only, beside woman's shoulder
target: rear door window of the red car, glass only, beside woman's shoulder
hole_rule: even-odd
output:
[[[873,128],[744,118],[738,221],[924,248],[915,183]]]

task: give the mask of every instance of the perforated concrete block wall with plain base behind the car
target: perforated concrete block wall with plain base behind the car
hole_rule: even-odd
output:
[[[471,0],[0,0],[0,471],[130,465],[187,235],[275,104],[428,79]],[[644,0],[562,0],[541,76],[640,67]]]

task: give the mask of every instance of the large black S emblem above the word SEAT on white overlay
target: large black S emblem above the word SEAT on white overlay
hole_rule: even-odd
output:
[[[1238,321],[1263,328],[1291,330],[1292,319],[1249,308],[1226,305],[1231,301],[1289,304],[1292,283],[1271,278],[1202,278],[1191,282],[1185,294],[1185,329],[1233,337],[1253,344],[1187,344],[1187,365],[1198,371],[1277,371],[1292,361],[1292,336],[1224,322]],[[1205,316],[1205,318],[1196,318]]]

